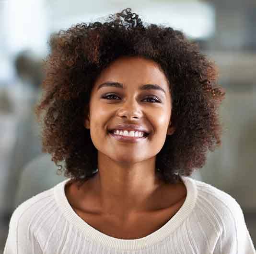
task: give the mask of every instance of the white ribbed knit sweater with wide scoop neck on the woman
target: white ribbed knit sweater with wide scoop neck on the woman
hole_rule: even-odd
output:
[[[135,240],[106,235],[83,221],[65,196],[66,179],[12,214],[4,254],[256,254],[233,197],[182,177],[183,206],[160,229]]]

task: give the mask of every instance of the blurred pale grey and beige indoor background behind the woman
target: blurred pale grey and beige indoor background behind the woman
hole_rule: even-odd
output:
[[[65,179],[42,153],[33,112],[49,35],[128,7],[182,30],[219,66],[223,144],[191,177],[237,200],[256,244],[255,0],[0,0],[0,253],[13,210]]]

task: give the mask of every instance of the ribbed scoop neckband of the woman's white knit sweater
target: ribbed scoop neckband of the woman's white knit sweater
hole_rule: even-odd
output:
[[[91,225],[83,221],[72,209],[65,195],[65,185],[70,181],[70,178],[58,183],[53,189],[55,200],[64,217],[87,239],[91,239],[91,241],[118,250],[139,250],[161,242],[164,238],[175,232],[175,230],[193,210],[198,196],[195,180],[185,176],[181,176],[181,179],[187,190],[186,199],[182,207],[160,229],[138,239],[115,238],[96,230]]]

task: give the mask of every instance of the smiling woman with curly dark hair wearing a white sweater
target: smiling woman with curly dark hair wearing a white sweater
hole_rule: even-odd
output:
[[[51,37],[36,112],[69,178],[14,211],[4,253],[255,253],[235,199],[189,177],[221,144],[215,66],[180,31],[109,18]]]

